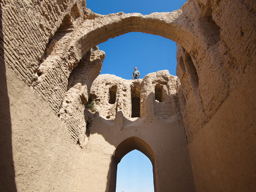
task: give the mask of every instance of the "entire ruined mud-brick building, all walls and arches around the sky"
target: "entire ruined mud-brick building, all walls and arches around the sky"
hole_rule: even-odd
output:
[[[133,148],[151,159],[155,191],[255,190],[255,1],[188,0],[150,15],[99,15],[80,0],[0,5],[1,191],[113,191],[116,162]],[[106,85],[107,110],[94,116],[96,46],[127,32],[176,41],[179,79]],[[182,173],[191,163],[193,177],[166,159]]]

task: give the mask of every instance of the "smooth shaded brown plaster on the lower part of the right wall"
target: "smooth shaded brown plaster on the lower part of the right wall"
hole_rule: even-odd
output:
[[[197,191],[255,190],[255,66],[188,144]],[[246,107],[244,107],[246,106]]]

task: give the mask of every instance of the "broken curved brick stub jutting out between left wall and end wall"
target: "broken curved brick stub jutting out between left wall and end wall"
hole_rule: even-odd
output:
[[[88,102],[93,80],[99,75],[105,53],[91,49],[73,69],[68,79],[68,91],[60,108],[59,116],[67,124],[71,137],[81,147],[87,143],[85,105]]]

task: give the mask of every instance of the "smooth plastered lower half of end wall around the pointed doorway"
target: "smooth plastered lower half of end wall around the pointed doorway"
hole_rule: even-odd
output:
[[[118,120],[116,119],[116,121]],[[100,145],[104,149],[105,156],[106,151],[113,155],[116,147],[122,141],[138,137],[154,151],[155,162],[152,162],[152,166],[155,167],[155,191],[195,191],[185,132],[181,124],[141,123],[138,119],[121,129],[120,124],[106,123],[105,121],[101,118],[94,120],[89,140],[89,143]],[[112,150],[109,152],[108,149]],[[140,148],[133,149],[140,150]],[[112,160],[110,154],[108,158]],[[98,166],[101,169],[101,174],[104,174],[104,177],[97,179],[99,182],[106,183],[110,191],[115,191],[116,172],[114,174],[111,172],[116,171],[117,164],[103,167],[102,164],[98,164],[102,159],[102,154],[97,155],[98,160],[95,166]],[[108,177],[105,177],[106,173]]]

